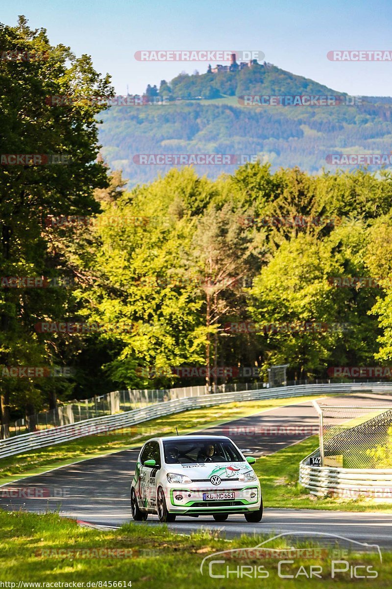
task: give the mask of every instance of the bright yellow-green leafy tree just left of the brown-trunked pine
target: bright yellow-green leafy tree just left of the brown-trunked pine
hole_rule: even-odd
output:
[[[186,254],[197,214],[214,194],[190,168],[172,170],[124,193],[99,217],[85,273],[99,269],[100,277],[81,292],[81,304],[89,320],[129,327],[100,337],[112,352],[106,373],[119,386],[172,385],[179,380],[173,366],[202,362],[203,301]]]

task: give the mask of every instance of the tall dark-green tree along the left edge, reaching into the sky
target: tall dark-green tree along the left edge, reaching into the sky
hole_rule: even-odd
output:
[[[54,277],[66,272],[66,262],[51,249],[42,220],[48,214],[86,215],[99,211],[92,193],[95,187],[104,187],[107,179],[105,167],[94,162],[99,148],[95,117],[105,107],[86,97],[111,95],[113,91],[108,75],[100,77],[87,55],[76,58],[64,45],[52,47],[45,30],[31,30],[24,16],[19,17],[16,27],[0,25],[0,46],[2,51],[35,56],[26,61],[0,61],[4,89],[0,97],[0,153],[60,154],[55,157],[68,162],[37,165],[39,160],[35,160],[34,165],[22,159],[23,165],[0,167],[2,275]],[[54,106],[48,100],[63,95],[73,97],[71,105]],[[65,289],[1,289],[1,364],[61,362],[59,350],[43,341],[34,325],[52,313],[64,315],[68,300]],[[10,382],[5,378],[0,381],[2,436],[8,435],[14,391],[19,406],[29,406],[31,411],[40,398],[39,391],[63,387],[54,380],[50,386],[30,378],[16,385]]]

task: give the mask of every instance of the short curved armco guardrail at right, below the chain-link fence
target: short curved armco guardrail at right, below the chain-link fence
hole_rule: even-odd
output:
[[[310,466],[313,452],[300,462],[299,482],[309,489],[311,495],[324,497],[329,493],[355,499],[366,497],[392,499],[392,468],[336,468],[333,466]]]

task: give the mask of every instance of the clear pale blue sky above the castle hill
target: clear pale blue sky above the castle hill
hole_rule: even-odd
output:
[[[350,95],[392,96],[392,62],[334,62],[333,50],[392,50],[392,5],[386,0],[15,0],[0,22],[24,14],[49,41],[89,54],[95,69],[112,75],[117,94],[142,93],[147,84],[181,71],[204,73],[205,62],[140,62],[142,50],[262,51],[277,67]],[[215,65],[212,63],[212,65]]]

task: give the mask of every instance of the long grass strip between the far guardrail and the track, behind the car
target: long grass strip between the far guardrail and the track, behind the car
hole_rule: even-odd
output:
[[[260,413],[282,405],[295,405],[320,397],[309,395],[287,399],[266,399],[265,401],[244,401],[215,405],[208,408],[192,409],[151,419],[133,428],[105,434],[85,436],[72,442],[64,442],[0,460],[0,484],[18,479],[21,475],[36,475],[52,468],[73,464],[86,458],[93,458],[128,448],[136,448],[156,435],[175,435],[197,432],[200,429],[219,425],[241,417]],[[191,426],[192,425],[192,426]]]

